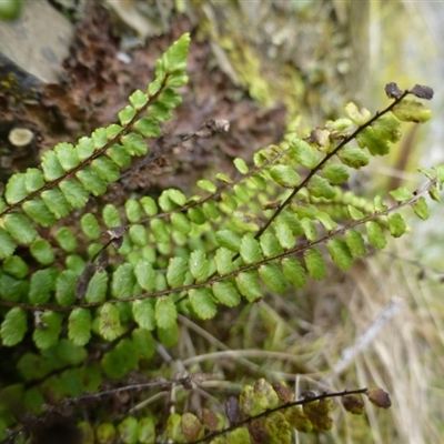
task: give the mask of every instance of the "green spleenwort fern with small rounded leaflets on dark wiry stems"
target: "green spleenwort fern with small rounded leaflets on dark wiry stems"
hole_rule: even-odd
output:
[[[184,34],[162,56],[147,92],[132,93],[119,113],[120,124],[99,128],[75,145],[59,143],[42,155],[39,168],[14,174],[6,185],[0,198],[1,342],[3,352],[20,352],[9,353],[14,377],[3,380],[0,392],[2,440],[20,430],[23,412],[40,415],[46,403],[98,392],[108,379],[122,379],[141,360],[152,359],[155,341],[174,345],[178,313],[208,320],[223,305],[303,287],[307,278],[324,278],[327,255],[340,269],[350,269],[369,248],[383,249],[387,233],[404,234],[403,206],[426,219],[425,196],[438,200],[442,168],[424,170],[427,182],[420,190],[391,192],[390,205],[381,195],[371,202],[344,191],[351,170],[386,154],[400,140],[402,121],[430,118],[416,100],[431,99],[430,88],[402,91],[392,83],[386,93],[393,101],[383,111],[372,117],[349,103],[346,118],[305,138],[287,135],[255,153],[251,167],[235,159],[233,176],[219,173],[214,181],[199,181],[202,193],[186,196],[168,189],[158,199],[134,194],[122,208],[107,203],[87,211],[91,195],[105,194],[133,157],[147,154],[147,139],[161,134],[161,123],[181,103],[176,89],[188,80],[189,43]],[[210,127],[226,129],[224,122]],[[80,229],[68,218],[75,218]],[[282,404],[276,393],[272,397]],[[242,410],[243,417],[261,408]],[[296,416],[307,431],[314,420],[301,412]],[[202,425],[191,414],[175,415],[165,432],[170,438],[193,442],[209,430],[204,420]],[[275,418],[281,431],[296,426],[281,416]],[[179,425],[186,421],[199,433],[183,435],[186,424]],[[150,424],[153,431],[165,427]],[[281,435],[276,440],[286,442]]]

